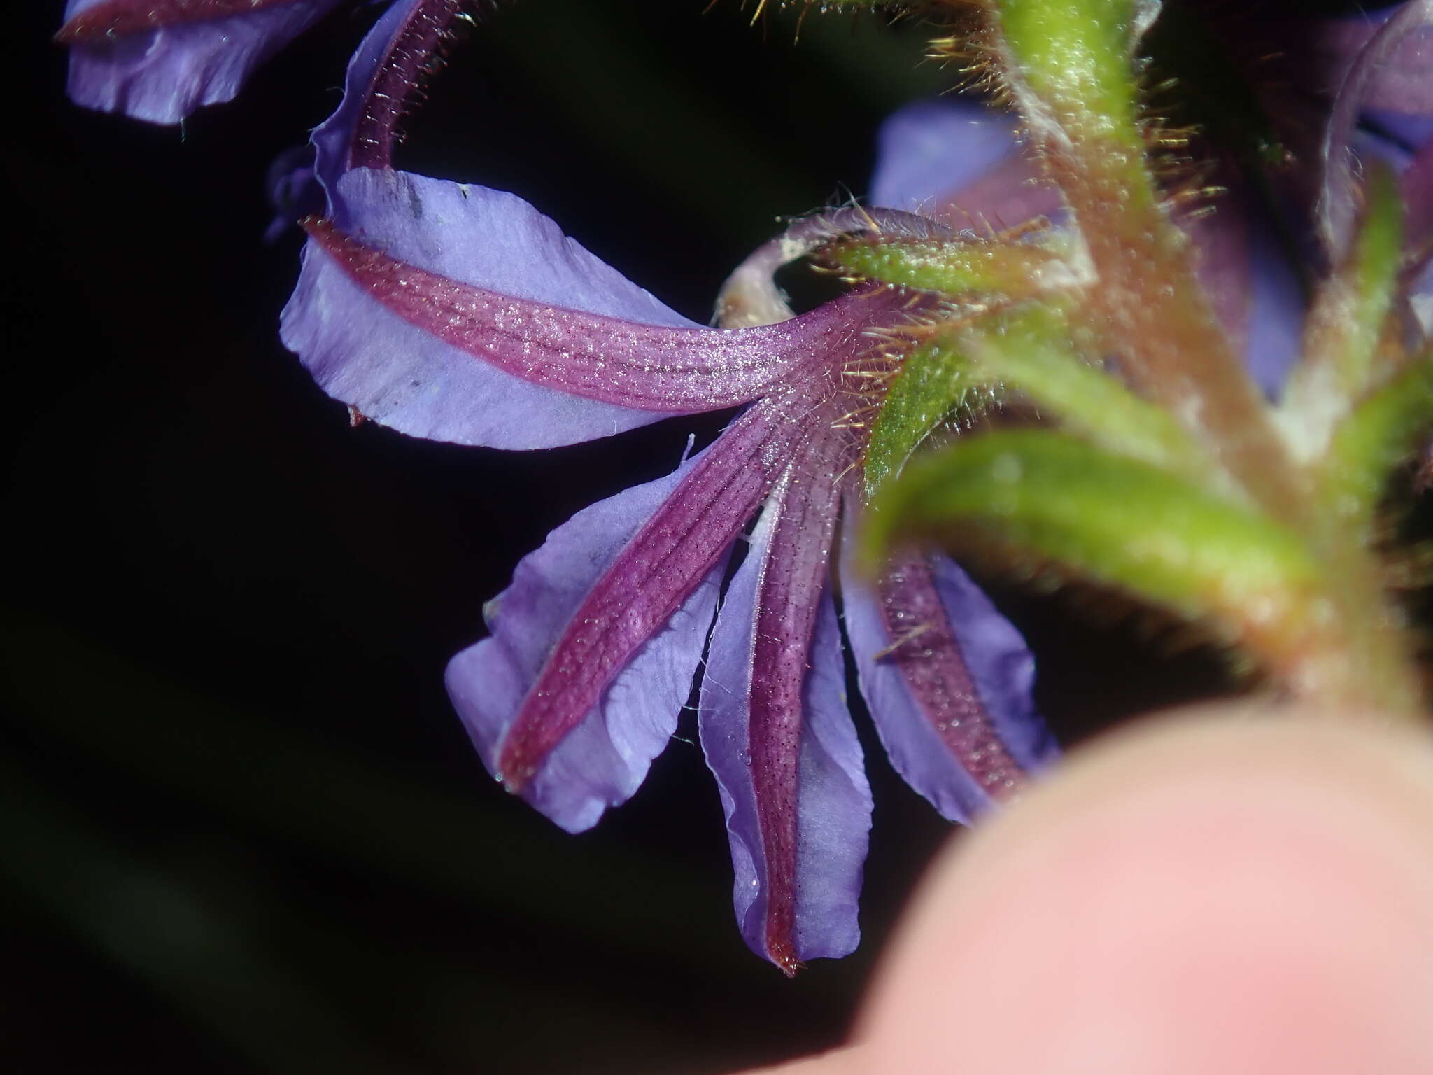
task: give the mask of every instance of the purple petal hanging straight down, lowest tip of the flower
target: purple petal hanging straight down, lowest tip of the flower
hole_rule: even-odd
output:
[[[701,738],[721,790],[737,920],[785,973],[860,939],[870,788],[830,596],[840,446],[830,419],[767,500],[712,632]],[[817,463],[820,462],[820,467]]]

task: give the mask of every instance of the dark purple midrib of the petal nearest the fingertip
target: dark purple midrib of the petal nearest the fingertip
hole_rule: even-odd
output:
[[[1010,794],[1025,783],[1025,770],[980,698],[930,563],[917,553],[896,556],[877,589],[881,622],[894,646],[884,659],[898,666],[916,705],[980,790],[992,798]]]

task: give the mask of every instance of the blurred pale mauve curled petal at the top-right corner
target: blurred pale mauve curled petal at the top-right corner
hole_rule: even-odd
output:
[[[1426,75],[1433,52],[1433,0],[1409,0],[1358,50],[1324,129],[1323,179],[1318,192],[1318,234],[1330,259],[1343,259],[1358,211],[1358,173],[1353,149],[1354,128],[1366,108],[1394,108],[1419,113],[1433,106],[1433,85]],[[1419,85],[1404,85],[1412,79]],[[1383,100],[1383,87],[1393,95]],[[1397,89],[1403,89],[1401,99]]]

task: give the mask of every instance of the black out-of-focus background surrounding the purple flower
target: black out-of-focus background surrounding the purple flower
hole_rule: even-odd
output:
[[[523,194],[706,320],[778,215],[861,194],[880,118],[954,73],[914,26],[813,16],[795,44],[794,14],[702,6],[504,7],[397,163]],[[532,454],[350,429],[278,343],[298,238],[264,244],[264,173],[371,13],[181,130],[69,105],[59,1],[11,9],[0,1064],[708,1072],[840,1041],[949,833],[864,727],[866,939],[787,982],[737,935],[689,717],[569,837],[487,778],[441,689],[523,553],[725,416]],[[1211,666],[997,595],[1066,741]]]

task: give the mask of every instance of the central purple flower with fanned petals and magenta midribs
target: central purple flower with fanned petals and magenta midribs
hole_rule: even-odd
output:
[[[883,334],[909,300],[873,288],[784,310],[771,269],[815,234],[868,226],[847,211],[758,251],[725,292],[724,320],[748,327],[706,328],[519,198],[393,171],[393,72],[428,10],[388,10],[315,133],[330,219],[310,224],[284,340],[364,416],[464,444],[549,447],[745,406],[668,477],[557,527],[489,602],[492,636],[447,682],[487,768],[579,831],[633,794],[699,678],[747,942],[788,973],[845,955],[871,801],[837,578],[887,752],[946,817],[967,820],[1055,752],[1027,649],[953,562],[909,550],[876,583],[843,570],[866,420],[898,361]],[[1003,158],[1003,126],[976,138],[990,120],[969,115],[969,152]]]

